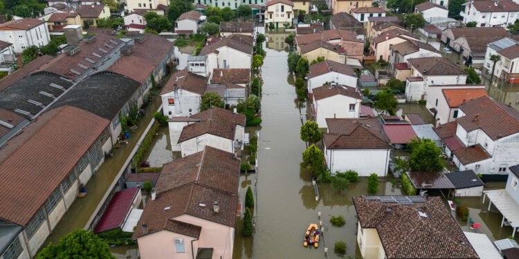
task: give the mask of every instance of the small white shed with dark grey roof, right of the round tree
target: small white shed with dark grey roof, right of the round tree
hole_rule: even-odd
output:
[[[483,187],[485,184],[472,170],[446,173],[446,176],[454,186],[455,196],[479,197],[483,193]]]

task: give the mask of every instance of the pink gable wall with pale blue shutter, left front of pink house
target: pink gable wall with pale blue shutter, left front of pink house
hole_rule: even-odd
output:
[[[184,242],[185,253],[176,252],[175,238],[182,238]],[[191,240],[194,240],[194,238],[163,230],[138,238],[137,243],[139,247],[140,258],[143,259],[191,259]],[[195,243],[197,243],[197,241],[195,241]],[[193,249],[193,251],[196,253],[197,249]]]

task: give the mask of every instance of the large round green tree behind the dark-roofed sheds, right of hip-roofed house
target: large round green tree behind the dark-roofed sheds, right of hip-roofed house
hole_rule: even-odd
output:
[[[441,160],[441,148],[429,139],[411,140],[408,144],[411,149],[409,155],[409,165],[411,171],[415,172],[435,172],[444,169],[444,162]]]

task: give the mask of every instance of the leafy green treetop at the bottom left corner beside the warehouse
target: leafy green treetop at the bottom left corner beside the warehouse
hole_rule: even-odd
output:
[[[113,258],[110,247],[92,231],[76,229],[60,239],[57,244],[48,244],[36,257],[53,258]]]

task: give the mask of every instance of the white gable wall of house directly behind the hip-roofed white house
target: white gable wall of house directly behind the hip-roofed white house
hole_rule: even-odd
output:
[[[334,95],[318,101],[313,97],[313,103],[316,106],[316,122],[319,124],[319,128],[328,128],[326,118],[358,118],[361,102],[361,99],[344,95]],[[349,104],[355,104],[354,111],[349,111]]]

